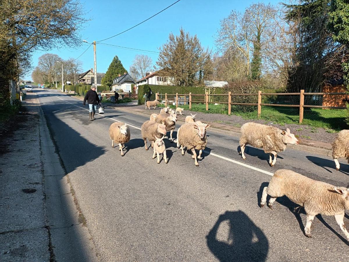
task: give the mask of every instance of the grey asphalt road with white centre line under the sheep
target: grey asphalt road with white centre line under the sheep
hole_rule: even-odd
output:
[[[169,163],[157,164],[141,139],[146,117],[105,108],[89,122],[82,101],[56,90],[34,93],[103,261],[349,260],[348,242],[333,217],[318,215],[309,239],[304,210],[294,212],[297,205],[286,197],[276,200],[274,210],[258,205],[268,172],[288,168],[347,186],[349,165],[343,161],[337,172],[329,157],[288,148],[269,167],[262,150],[247,146],[244,161],[237,137],[208,131],[206,151],[215,155],[204,153],[200,167],[169,140]],[[116,120],[134,126],[124,157],[108,134]]]

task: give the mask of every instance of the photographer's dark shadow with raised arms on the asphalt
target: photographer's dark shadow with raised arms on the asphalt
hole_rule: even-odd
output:
[[[224,221],[229,224],[227,241],[217,239],[218,228]],[[221,262],[265,261],[268,255],[265,234],[240,210],[221,214],[206,238],[208,248]]]

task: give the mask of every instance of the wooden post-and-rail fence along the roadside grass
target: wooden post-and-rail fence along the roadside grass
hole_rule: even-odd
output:
[[[257,103],[232,103],[231,97],[233,96],[258,96],[258,102]],[[299,104],[267,104],[262,103],[262,96],[267,95],[273,95],[273,96],[284,96],[284,95],[299,95]],[[228,94],[167,94],[165,93],[165,99],[163,97],[159,98],[159,93],[155,94],[156,100],[162,100],[165,101],[165,106],[167,106],[167,103],[169,101],[176,101],[176,107],[178,107],[178,97],[184,96],[184,101],[181,100],[180,102],[184,102],[186,104],[189,103],[189,109],[192,108],[192,103],[205,103],[206,104],[206,110],[208,110],[208,104],[228,104],[228,115],[231,114],[231,105],[255,105],[257,106],[257,113],[258,117],[260,117],[262,112],[262,105],[267,106],[273,106],[273,107],[298,107],[299,108],[299,123],[303,122],[303,114],[304,114],[304,108],[329,108],[329,109],[346,109],[346,107],[331,107],[331,106],[322,106],[322,105],[305,105],[304,104],[304,95],[347,95],[346,93],[305,93],[304,90],[300,90],[300,93],[262,93],[262,91],[258,91],[258,93],[254,94],[232,94],[231,92],[228,92]],[[161,96],[163,96],[161,94]],[[188,100],[187,100],[188,96]],[[192,96],[194,96],[195,100],[192,100]],[[203,99],[198,99],[196,97],[204,97]],[[228,102],[210,102],[209,97],[210,96],[228,96]],[[169,99],[169,97],[172,97],[172,99]]]

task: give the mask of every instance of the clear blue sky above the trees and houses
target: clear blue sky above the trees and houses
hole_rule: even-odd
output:
[[[156,14],[176,0],[163,1],[112,1],[99,0],[84,2],[85,16],[91,21],[84,25],[80,32],[81,40],[86,39],[89,43],[100,41],[104,38],[116,35]],[[257,1],[236,0],[236,1],[208,1],[208,0],[181,0],[164,12],[152,19],[142,23],[119,36],[108,39],[102,43],[126,46],[128,48],[158,51],[171,32],[178,34],[183,27],[191,35],[197,35],[201,44],[215,50],[215,35],[220,27],[220,20],[227,17],[232,9],[241,12]],[[265,3],[276,5],[279,1],[265,1]],[[76,49],[60,48],[50,51],[38,51],[33,54],[32,65],[38,63],[38,57],[44,53],[58,54],[62,59],[79,57],[89,44],[83,43]],[[113,57],[117,55],[122,65],[129,70],[136,54],[147,54],[155,64],[157,54],[136,52],[111,46],[97,44],[97,72],[105,73]],[[89,48],[79,60],[83,63],[83,71],[94,67],[93,48]],[[23,77],[31,79],[31,72]]]

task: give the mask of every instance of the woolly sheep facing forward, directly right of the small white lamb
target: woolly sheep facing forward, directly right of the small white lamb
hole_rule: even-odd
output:
[[[206,129],[210,125],[198,124],[198,123],[186,123],[180,126],[177,131],[177,147],[181,146],[182,155],[184,155],[184,147],[191,150],[193,153],[192,158],[195,159],[195,166],[199,166],[198,160],[196,159],[196,150],[200,150],[199,157],[201,158],[202,150],[207,145]]]

